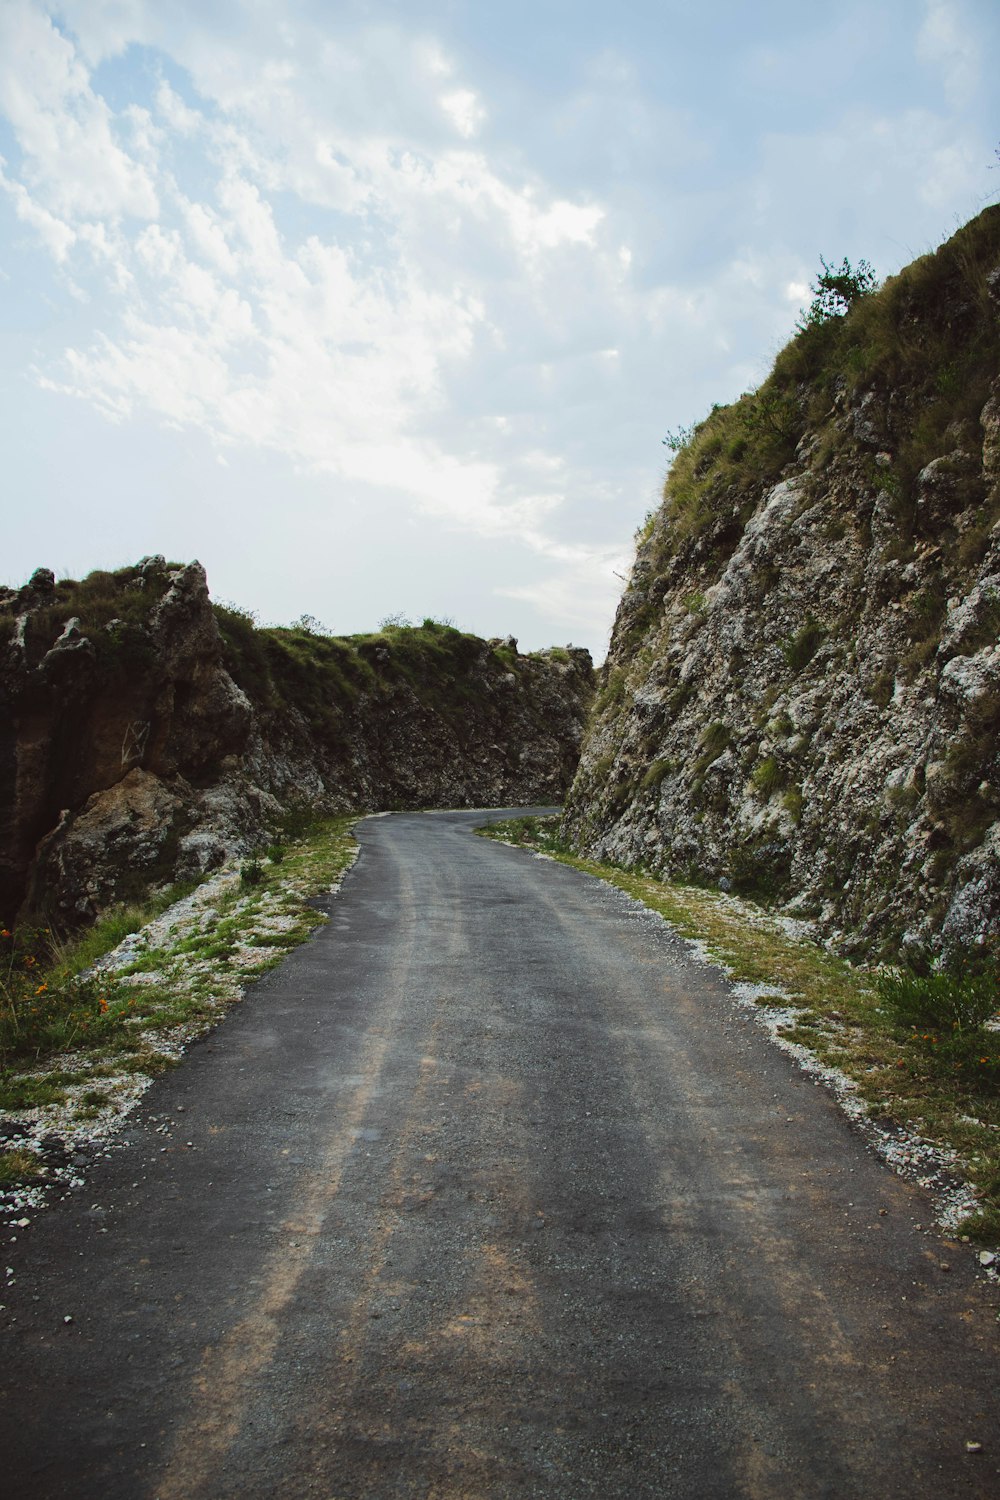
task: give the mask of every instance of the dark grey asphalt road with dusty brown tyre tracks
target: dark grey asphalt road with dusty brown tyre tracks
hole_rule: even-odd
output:
[[[10,1246],[3,1492],[996,1497],[969,1251],[658,918],[483,820],[364,822]]]

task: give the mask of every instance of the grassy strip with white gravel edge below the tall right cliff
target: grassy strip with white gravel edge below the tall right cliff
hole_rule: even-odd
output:
[[[957,1232],[1000,1240],[1000,1030],[915,1023],[885,972],[849,964],[747,900],[582,858],[558,828],[558,818],[516,818],[480,832],[607,880],[700,940],[736,981],[759,986],[759,1005],[790,1012],[778,1034],[850,1078],[870,1118],[954,1154],[978,1203]]]

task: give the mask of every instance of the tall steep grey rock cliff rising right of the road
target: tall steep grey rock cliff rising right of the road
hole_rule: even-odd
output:
[[[681,435],[564,830],[844,946],[1000,932],[1000,208]]]

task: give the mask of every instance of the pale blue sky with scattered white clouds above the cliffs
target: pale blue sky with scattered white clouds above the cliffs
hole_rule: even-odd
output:
[[[0,582],[604,656],[667,430],[1000,194],[999,0],[0,0]]]

